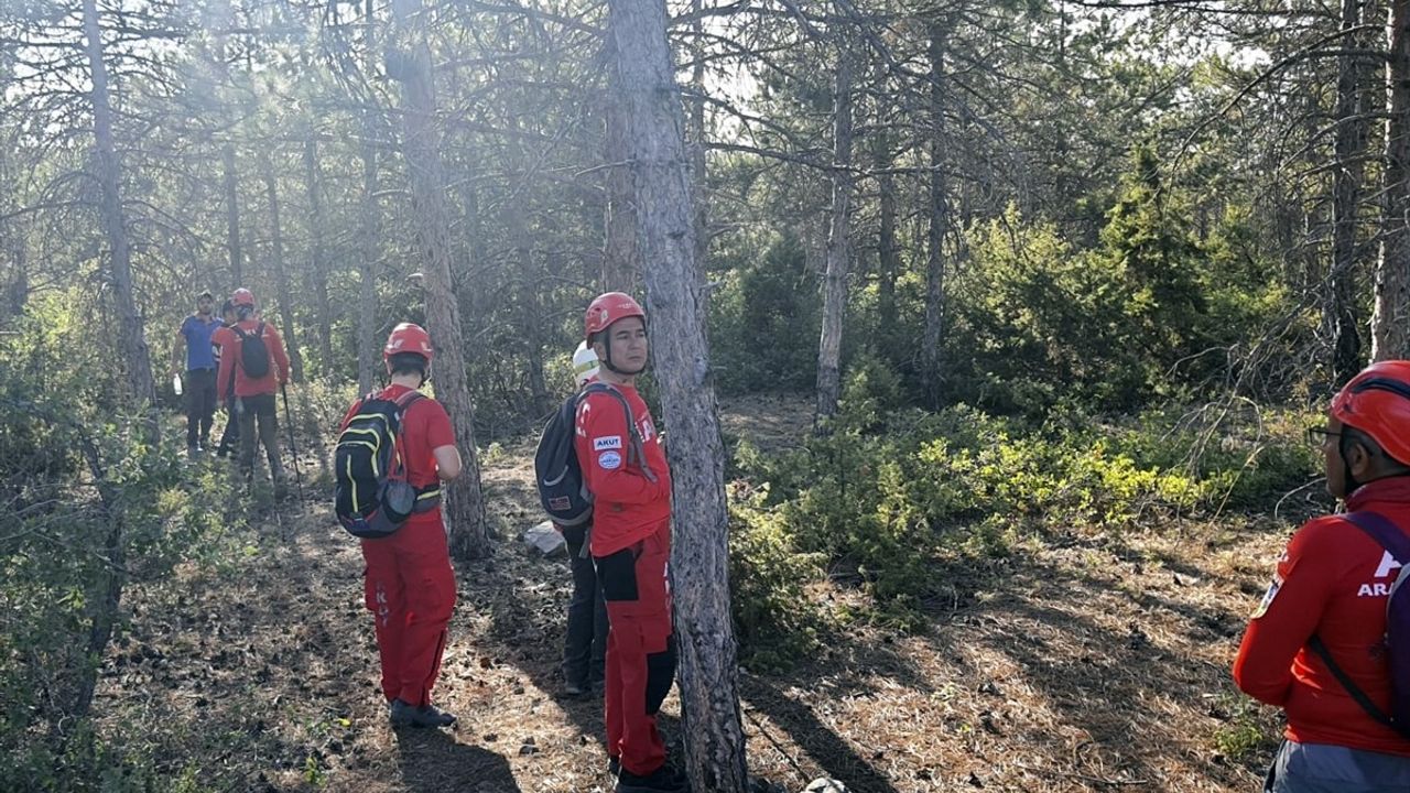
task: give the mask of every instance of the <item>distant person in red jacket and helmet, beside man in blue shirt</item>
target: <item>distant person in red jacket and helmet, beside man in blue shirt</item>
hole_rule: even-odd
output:
[[[283,498],[288,487],[283,463],[279,461],[279,412],[275,395],[281,385],[289,382],[289,353],[283,349],[279,330],[255,317],[255,296],[250,289],[235,289],[230,302],[235,306],[235,325],[230,327],[230,334],[223,334],[226,343],[220,349],[220,373],[216,375],[217,398],[221,404],[231,399],[234,412],[240,416],[240,473],[245,481],[254,478],[258,422],[258,440],[269,459],[275,497]],[[268,351],[266,371],[261,377],[245,373],[244,346],[252,339],[262,340]],[[231,378],[234,378],[230,391],[233,396],[220,388],[220,384],[231,382]]]

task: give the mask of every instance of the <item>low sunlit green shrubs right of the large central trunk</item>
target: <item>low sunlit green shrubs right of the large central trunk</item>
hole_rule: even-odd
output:
[[[1058,412],[1034,422],[964,405],[895,409],[897,392],[895,375],[867,361],[828,433],[778,456],[736,449],[743,495],[732,552],[747,581],[736,580],[736,617],[742,634],[767,636],[768,652],[812,639],[785,638],[799,626],[768,617],[802,614],[798,577],[818,580],[809,570],[854,581],[873,604],[862,617],[911,628],[948,576],[1007,555],[1026,535],[1118,532],[1151,515],[1252,507],[1314,470],[1299,443],[1300,415],[1259,425],[1149,411],[1103,423]],[[788,566],[788,549],[807,555],[801,566]]]

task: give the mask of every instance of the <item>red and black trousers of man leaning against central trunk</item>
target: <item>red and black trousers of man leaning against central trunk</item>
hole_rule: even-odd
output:
[[[675,679],[671,631],[670,522],[647,539],[595,559],[608,605],[608,755],[622,768],[650,775],[666,763],[656,714]]]

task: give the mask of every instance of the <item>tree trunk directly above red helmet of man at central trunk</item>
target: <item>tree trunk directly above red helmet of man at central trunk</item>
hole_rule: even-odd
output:
[[[612,47],[612,42],[608,42]],[[626,97],[620,78],[608,75],[606,140],[606,241],[602,251],[602,289],[634,292],[642,277],[642,258],[636,240],[636,205],[632,196],[632,169],[627,168]]]

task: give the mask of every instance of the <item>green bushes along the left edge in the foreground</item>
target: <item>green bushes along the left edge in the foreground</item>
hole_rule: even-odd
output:
[[[237,500],[227,477],[185,461],[179,433],[154,444],[151,418],[121,412],[103,388],[111,367],[68,316],[35,302],[0,336],[0,789],[161,789],[178,780],[128,749],[141,737],[99,737],[83,715],[90,636],[123,631],[114,581],[228,549]],[[68,365],[47,365],[61,350]]]

